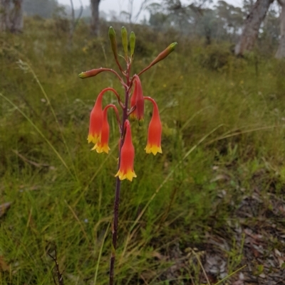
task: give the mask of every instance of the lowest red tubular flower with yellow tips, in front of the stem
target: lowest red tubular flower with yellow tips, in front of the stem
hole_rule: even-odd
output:
[[[135,148],[130,132],[130,122],[128,120],[125,121],[125,128],[125,141],[120,151],[120,168],[115,177],[119,176],[120,180],[128,179],[129,181],[133,181],[133,178],[137,177],[133,169]]]

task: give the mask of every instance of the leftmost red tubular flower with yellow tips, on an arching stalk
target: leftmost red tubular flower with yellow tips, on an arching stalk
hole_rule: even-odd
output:
[[[118,93],[111,87],[105,88],[100,92],[95,102],[95,105],[90,114],[89,134],[88,143],[93,142],[97,144],[101,140],[101,131],[103,126],[103,109],[102,109],[102,98],[105,92],[112,91],[118,96]]]

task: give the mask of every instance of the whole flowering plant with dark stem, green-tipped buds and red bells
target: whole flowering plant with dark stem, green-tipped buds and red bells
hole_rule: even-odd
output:
[[[120,73],[123,75],[121,77],[118,72],[110,68],[98,68],[89,70],[86,72],[81,72],[78,75],[80,78],[88,78],[94,77],[98,75],[100,72],[109,71],[113,72],[113,74],[118,78],[121,85],[125,90],[125,97],[122,101],[120,95],[116,90],[112,87],[105,88],[100,92],[93,107],[93,110],[90,114],[90,126],[89,126],[89,134],[88,134],[88,142],[93,143],[93,150],[96,150],[100,153],[107,153],[110,150],[108,146],[109,141],[109,132],[110,127],[108,124],[108,116],[107,112],[109,108],[113,108],[115,110],[116,119],[119,125],[120,130],[120,140],[119,140],[119,158],[118,158],[118,169],[115,174],[116,182],[115,182],[115,199],[114,199],[114,213],[113,213],[113,224],[112,224],[112,249],[111,249],[111,257],[110,257],[110,274],[109,274],[109,285],[113,285],[115,281],[115,254],[117,248],[117,240],[118,240],[118,220],[119,220],[119,203],[120,203],[120,186],[121,181],[128,180],[133,181],[133,178],[137,177],[134,171],[134,161],[135,161],[135,148],[132,142],[131,135],[131,125],[128,120],[128,117],[133,119],[137,119],[139,125],[142,125],[144,121],[144,112],[145,112],[145,100],[152,102],[153,112],[152,119],[150,120],[150,124],[148,127],[148,137],[147,137],[147,146],[145,151],[147,154],[162,153],[161,149],[161,134],[162,134],[162,124],[160,122],[159,110],[155,100],[151,97],[144,97],[142,94],[142,84],[140,82],[140,75],[151,68],[153,65],[158,63],[160,60],[163,60],[167,57],[172,51],[175,49],[177,43],[172,43],[165,50],[160,53],[155,60],[152,60],[152,63],[147,66],[147,68],[143,69],[138,75],[130,75],[130,70],[133,65],[133,57],[135,52],[135,33],[130,33],[130,54],[128,50],[128,31],[126,28],[121,29],[122,35],[122,43],[123,50],[125,56],[126,69],[123,70],[120,65],[118,58],[118,45],[115,37],[115,30],[110,27],[109,28],[109,39],[111,49],[113,51],[115,63],[118,65]],[[133,95],[131,96],[131,90],[133,87]],[[103,95],[107,91],[112,91],[118,99],[118,105],[122,109],[121,119],[119,116],[119,112],[117,107],[114,104],[108,104],[103,109]]]

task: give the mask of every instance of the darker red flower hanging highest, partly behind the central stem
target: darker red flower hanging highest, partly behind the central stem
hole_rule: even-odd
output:
[[[138,77],[138,75],[135,75],[134,78],[135,89],[133,96],[130,98],[130,107],[136,107],[135,111],[130,114],[130,117],[131,119],[138,119],[138,123],[141,126],[144,121],[145,101],[143,100],[144,97],[142,93],[142,83],[140,82],[140,77]]]

